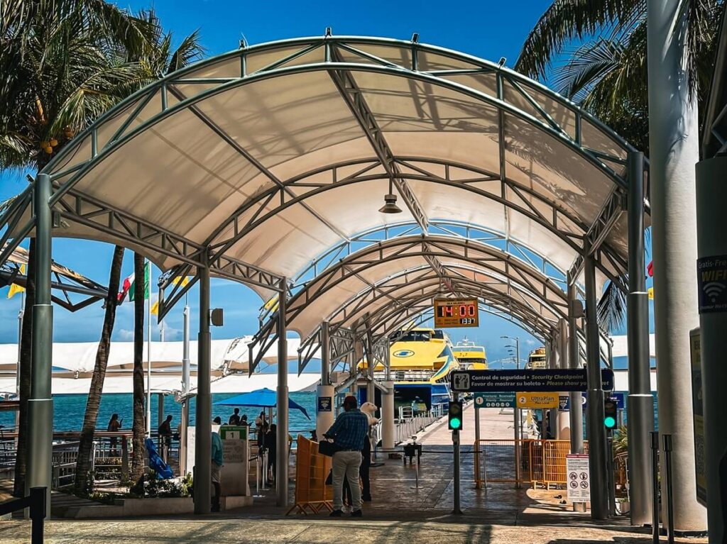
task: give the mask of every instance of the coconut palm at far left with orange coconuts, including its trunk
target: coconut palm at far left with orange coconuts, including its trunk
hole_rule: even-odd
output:
[[[75,134],[158,76],[146,60],[158,62],[165,54],[171,56],[171,40],[164,42],[166,53],[156,53],[160,36],[168,37],[157,27],[153,12],[137,17],[103,0],[2,2],[0,170],[39,171]],[[189,60],[194,44],[182,45],[186,53],[174,62],[170,58],[170,64]],[[32,263],[32,241],[30,253]],[[23,494],[25,480],[34,279],[31,264],[20,341],[16,495]]]

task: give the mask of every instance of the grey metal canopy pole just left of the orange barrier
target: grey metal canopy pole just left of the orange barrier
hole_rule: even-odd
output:
[[[278,458],[276,459],[276,504],[288,506],[288,336],[285,286],[278,301]]]

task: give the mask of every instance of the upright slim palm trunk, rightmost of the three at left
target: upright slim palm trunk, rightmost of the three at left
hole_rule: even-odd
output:
[[[132,479],[143,489],[144,476],[144,257],[134,252],[134,437]]]

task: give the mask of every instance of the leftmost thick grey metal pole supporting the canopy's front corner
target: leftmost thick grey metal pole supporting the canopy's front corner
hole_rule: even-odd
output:
[[[31,397],[28,399],[28,477],[31,487],[46,487],[46,511],[50,513],[53,444],[53,306],[50,293],[51,264],[50,176],[39,174],[33,195],[36,216],[36,301],[33,304]]]

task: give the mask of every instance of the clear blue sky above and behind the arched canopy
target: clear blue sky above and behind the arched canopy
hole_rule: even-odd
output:
[[[149,1],[118,2],[136,11],[150,6]],[[231,2],[222,0],[156,0],[153,6],[161,23],[172,31],[177,41],[199,30],[209,56],[236,49],[241,38],[249,44],[298,36],[319,36],[326,27],[334,34],[356,34],[411,38],[457,49],[489,60],[507,58],[513,66],[523,39],[550,4],[547,0],[519,2],[468,1],[443,4],[441,1],[411,2]],[[25,174],[32,171],[0,173],[0,200],[17,194],[25,187]],[[27,244],[23,244],[27,246]],[[113,247],[84,240],[55,239],[53,256],[99,283],[108,283],[108,267]],[[132,272],[132,253],[127,251],[122,276]],[[158,277],[155,269],[154,277]],[[156,283],[156,280],[155,280]],[[7,299],[7,288],[0,290],[0,343],[14,342],[17,335],[17,311],[20,296]],[[196,331],[196,290],[190,293],[193,309],[192,330]],[[225,309],[225,326],[213,330],[214,338],[231,338],[257,330],[260,299],[243,285],[226,280],[212,280],[212,306]],[[132,305],[119,307],[115,340],[131,339]],[[100,334],[103,309],[95,304],[76,314],[55,310],[55,341],[94,341]],[[520,336],[521,357],[537,346],[537,341],[523,330],[489,314],[481,315],[478,330],[454,329],[457,340],[469,336],[483,343],[490,360],[507,357],[502,335]],[[181,339],[182,308],[172,310],[166,320],[166,338]],[[195,333],[193,332],[193,335]]]

